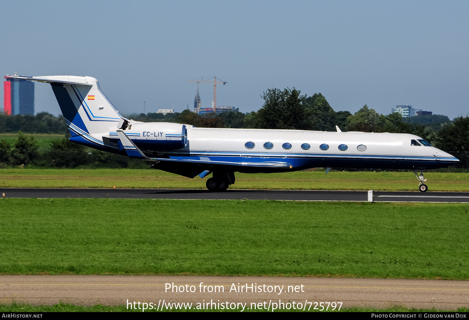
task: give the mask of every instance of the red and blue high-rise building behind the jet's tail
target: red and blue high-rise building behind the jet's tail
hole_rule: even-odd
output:
[[[15,76],[18,74],[15,73]],[[34,115],[34,82],[7,76],[3,83],[3,113]]]

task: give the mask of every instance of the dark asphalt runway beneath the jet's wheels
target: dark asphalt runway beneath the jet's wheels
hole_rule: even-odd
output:
[[[367,201],[367,191],[323,190],[208,190],[174,189],[26,189],[3,188],[7,198],[110,198],[110,199],[218,199]],[[467,192],[375,192],[376,202],[456,202],[468,203]]]

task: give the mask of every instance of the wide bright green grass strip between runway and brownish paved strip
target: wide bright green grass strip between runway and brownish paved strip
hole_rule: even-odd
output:
[[[0,273],[469,279],[468,204],[1,199]]]

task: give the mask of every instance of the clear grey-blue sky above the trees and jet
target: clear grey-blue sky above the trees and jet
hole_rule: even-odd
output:
[[[123,114],[193,108],[200,77],[217,105],[262,107],[268,88],[367,104],[469,112],[468,1],[2,1],[0,72],[99,80]],[[213,86],[200,84],[203,108]],[[1,90],[3,106],[3,90]],[[58,115],[51,87],[35,110]]]

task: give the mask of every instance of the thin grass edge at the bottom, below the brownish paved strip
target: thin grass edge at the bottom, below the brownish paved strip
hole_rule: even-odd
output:
[[[307,308],[306,308],[307,309]],[[236,310],[176,310],[165,309],[165,312],[233,312]],[[307,310],[306,310],[307,311]],[[468,312],[467,308],[460,308],[457,312]],[[0,304],[0,312],[142,312],[142,310],[127,309],[125,305],[105,306],[92,305],[82,306],[73,304],[54,304],[54,305],[30,305],[30,304]],[[157,310],[145,310],[145,312],[157,312]],[[238,311],[239,312],[239,311]],[[265,310],[244,309],[243,312],[265,312]],[[275,312],[303,312],[303,310],[276,310]],[[311,308],[310,312],[320,312]],[[328,312],[334,312],[328,310]],[[337,312],[337,311],[335,311]],[[436,309],[409,309],[401,306],[394,306],[387,309],[370,308],[340,308],[339,312],[448,312],[447,310]]]

